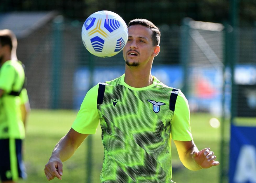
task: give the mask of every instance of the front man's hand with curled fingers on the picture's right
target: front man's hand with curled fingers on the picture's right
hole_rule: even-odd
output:
[[[212,166],[217,166],[220,163],[215,161],[216,156],[210,151],[210,148],[205,148],[199,152],[194,152],[193,159],[202,168],[210,168]]]

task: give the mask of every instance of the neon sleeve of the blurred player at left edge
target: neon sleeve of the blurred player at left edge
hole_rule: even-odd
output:
[[[11,65],[3,65],[0,69],[0,89],[9,93],[15,79],[15,70]]]

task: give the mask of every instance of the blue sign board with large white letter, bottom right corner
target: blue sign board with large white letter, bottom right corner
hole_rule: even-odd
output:
[[[256,183],[256,127],[231,125],[229,183]]]

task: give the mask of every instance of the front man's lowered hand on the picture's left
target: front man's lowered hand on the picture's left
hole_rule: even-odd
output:
[[[48,180],[52,180],[55,177],[62,179],[62,162],[59,158],[50,158],[48,163],[45,165],[44,173]]]

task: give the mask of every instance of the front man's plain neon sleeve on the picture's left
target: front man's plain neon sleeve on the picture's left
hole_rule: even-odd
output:
[[[97,96],[99,85],[91,88],[80,107],[72,128],[82,134],[95,134],[99,124],[99,113],[97,109]]]

